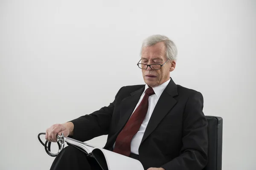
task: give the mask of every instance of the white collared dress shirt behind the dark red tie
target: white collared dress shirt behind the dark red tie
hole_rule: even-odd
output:
[[[140,147],[140,143],[142,141],[143,135],[145,133],[146,127],[148,125],[148,121],[152,115],[152,112],[157,104],[158,99],[160,98],[161,94],[163,93],[163,90],[166,88],[166,86],[169,84],[171,79],[169,79],[168,81],[164,82],[163,84],[153,87],[153,90],[155,92],[154,95],[149,96],[148,98],[148,112],[145,116],[145,119],[143,120],[140,129],[138,130],[138,132],[134,135],[134,137],[131,139],[131,153],[137,154],[139,155],[139,147]],[[140,100],[137,104],[137,106],[135,107],[134,111],[137,109],[137,107],[139,106],[140,102],[142,101],[144,95],[145,95],[145,91],[146,89],[148,89],[148,85],[145,84],[145,89],[144,92],[142,93],[142,95],[140,96]],[[134,112],[133,111],[133,112]],[[113,145],[113,148],[115,147],[115,144]]]

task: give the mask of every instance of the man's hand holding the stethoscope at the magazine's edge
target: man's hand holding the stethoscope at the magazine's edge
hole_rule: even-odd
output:
[[[46,130],[45,139],[50,142],[57,142],[57,134],[64,136],[73,135],[74,124],[67,122],[64,124],[54,124]]]

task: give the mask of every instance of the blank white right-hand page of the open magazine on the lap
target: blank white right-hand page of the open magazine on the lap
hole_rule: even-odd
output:
[[[108,164],[108,170],[144,170],[140,161],[123,156],[118,153],[111,152],[102,148],[97,148],[102,151]]]

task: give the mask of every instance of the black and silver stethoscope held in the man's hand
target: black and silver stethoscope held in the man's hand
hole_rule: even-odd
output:
[[[39,133],[38,134],[38,140],[40,141],[40,143],[44,146],[44,149],[46,151],[46,153],[49,156],[55,157],[58,155],[58,153],[61,152],[61,150],[64,148],[64,142],[65,142],[65,137],[63,135],[63,133],[61,133],[61,135],[57,135],[57,144],[58,144],[58,153],[52,153],[51,152],[51,143],[50,141],[46,141],[45,143],[41,140],[40,135],[45,135],[45,133]],[[48,143],[48,146],[47,146]]]

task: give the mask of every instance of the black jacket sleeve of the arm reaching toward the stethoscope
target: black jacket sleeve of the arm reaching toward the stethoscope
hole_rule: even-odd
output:
[[[116,97],[121,89],[117,92]],[[102,107],[90,115],[84,115],[70,121],[74,124],[73,136],[70,137],[79,141],[88,141],[100,135],[107,135],[111,124],[116,97],[108,107]]]

